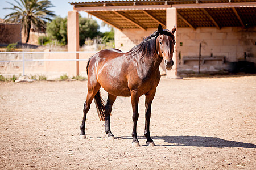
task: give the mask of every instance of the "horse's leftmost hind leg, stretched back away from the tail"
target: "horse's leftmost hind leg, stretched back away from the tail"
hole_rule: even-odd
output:
[[[101,88],[101,86],[98,83],[97,83],[97,86],[94,86],[94,88],[90,87],[89,83],[88,83],[88,93],[87,93],[86,101],[84,103],[84,117],[82,118],[82,124],[80,126],[80,129],[81,129],[80,138],[81,139],[86,138],[86,135],[85,135],[86,115],[90,109],[90,104],[92,103],[93,97],[96,95],[97,91],[100,90],[100,88]]]

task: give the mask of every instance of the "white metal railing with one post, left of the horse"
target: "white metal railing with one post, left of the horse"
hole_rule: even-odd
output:
[[[23,75],[25,75],[25,62],[28,61],[88,61],[88,59],[25,59],[25,54],[46,54],[46,53],[97,53],[98,51],[78,52],[0,52],[0,54],[22,54],[22,59],[0,60],[0,62],[22,62]]]

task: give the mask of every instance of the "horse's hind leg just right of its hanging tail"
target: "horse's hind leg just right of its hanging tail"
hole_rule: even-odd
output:
[[[108,95],[108,100],[105,105],[105,111],[106,111],[106,121],[105,121],[105,131],[108,135],[108,139],[114,139],[114,135],[110,131],[110,113],[112,111],[112,106],[115,102],[115,99],[117,99],[117,96],[113,96],[111,94]]]

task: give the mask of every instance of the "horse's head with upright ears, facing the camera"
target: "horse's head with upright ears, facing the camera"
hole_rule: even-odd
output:
[[[176,31],[176,25],[172,28],[172,31],[168,29],[162,28],[161,24],[158,26],[158,32],[160,35],[156,40],[156,44],[158,45],[158,54],[160,57],[163,57],[164,64],[166,65],[167,70],[171,70],[174,65],[174,61],[172,60],[172,56],[174,53],[174,32]]]

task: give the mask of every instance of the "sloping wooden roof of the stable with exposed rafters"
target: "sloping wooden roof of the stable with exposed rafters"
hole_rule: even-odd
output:
[[[101,1],[70,3],[118,28],[156,28],[166,25],[166,8],[176,7],[177,27],[256,26],[256,0]]]

